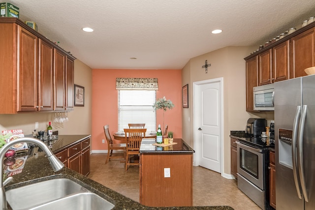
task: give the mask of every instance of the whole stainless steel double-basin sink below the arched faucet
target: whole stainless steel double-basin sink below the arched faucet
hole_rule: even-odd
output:
[[[12,210],[111,210],[114,205],[81,184],[58,178],[6,190]]]

